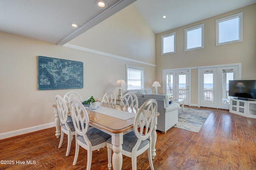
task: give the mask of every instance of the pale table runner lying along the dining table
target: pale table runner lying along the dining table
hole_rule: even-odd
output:
[[[88,107],[86,109],[88,109]],[[121,120],[128,120],[128,119],[135,117],[135,115],[136,115],[134,113],[129,113],[127,111],[120,111],[117,109],[112,109],[112,108],[103,107],[103,106],[100,106],[97,109],[89,109],[89,110],[96,111],[98,113],[102,113],[104,115],[115,117],[115,118],[118,118]]]

